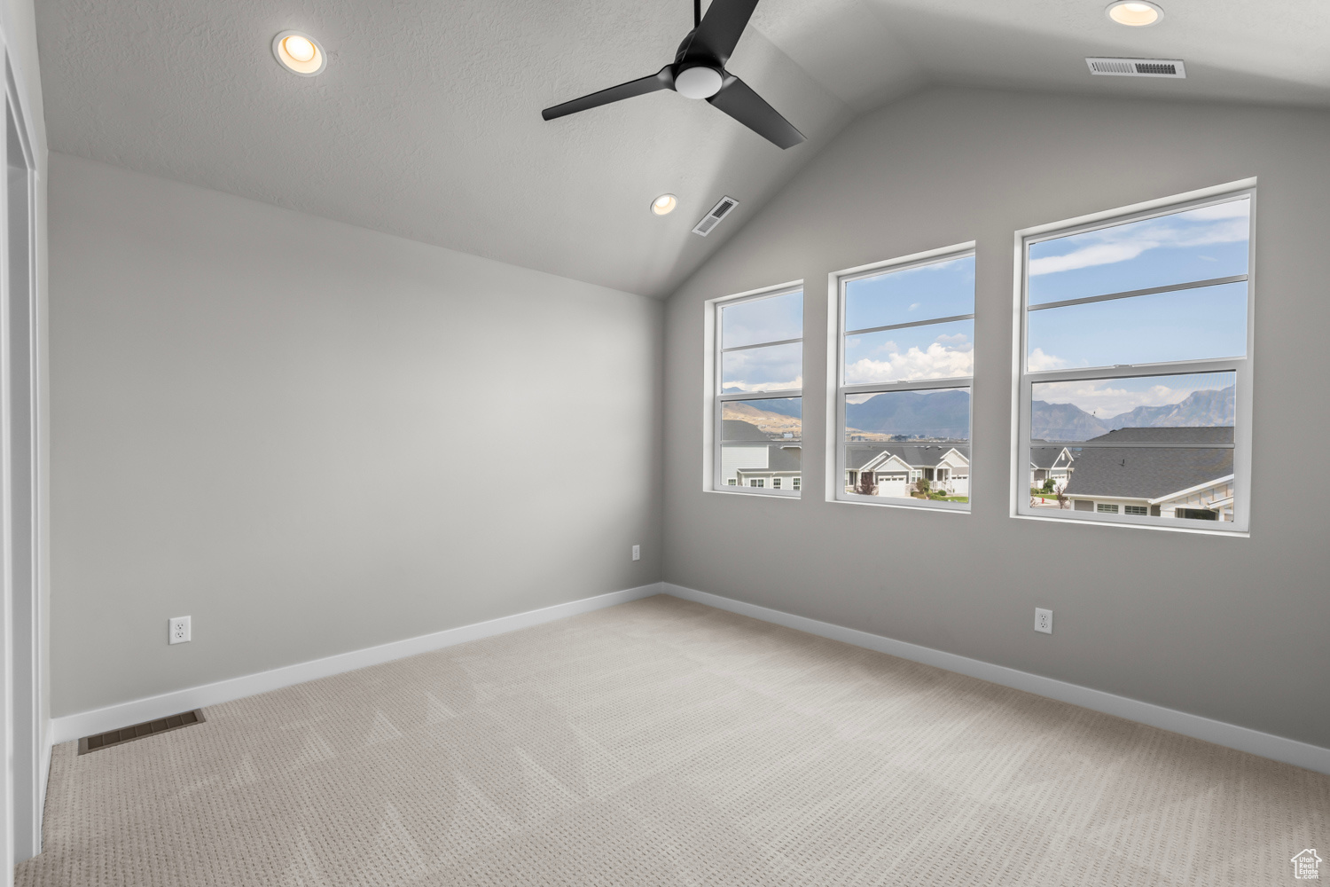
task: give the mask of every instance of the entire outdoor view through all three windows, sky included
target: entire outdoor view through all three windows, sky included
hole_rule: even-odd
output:
[[[1249,237],[1237,197],[1028,243],[1028,508],[1234,521]],[[845,285],[839,495],[970,501],[974,282],[966,254]],[[802,487],[802,310],[722,311],[725,487]]]

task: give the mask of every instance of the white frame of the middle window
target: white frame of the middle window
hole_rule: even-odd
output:
[[[914,508],[923,511],[939,511],[955,515],[968,515],[975,501],[974,487],[970,488],[968,503],[935,501],[931,499],[908,499],[890,501],[884,496],[862,496],[845,491],[846,464],[845,464],[845,396],[855,394],[882,394],[891,391],[936,391],[942,388],[967,388],[970,391],[970,464],[975,461],[975,378],[954,376],[950,379],[911,379],[902,382],[870,382],[862,384],[846,384],[845,382],[845,289],[854,281],[875,277],[883,271],[899,271],[907,267],[922,265],[935,265],[951,259],[975,255],[975,241],[942,246],[935,250],[911,253],[882,262],[859,265],[858,267],[833,271],[827,275],[827,452],[834,457],[827,459],[827,501],[846,503],[854,505],[876,505],[880,508]],[[978,293],[975,294],[978,301]],[[806,298],[806,297],[805,297]],[[978,307],[978,305],[976,305]],[[882,327],[902,328],[907,326],[928,326],[931,323],[946,323],[948,320],[972,320],[974,314],[962,314],[950,318],[936,318],[920,320],[918,323],[891,324]],[[878,327],[874,327],[875,330]],[[971,370],[972,371],[972,370]],[[914,475],[922,471],[911,469],[910,480],[914,484]]]

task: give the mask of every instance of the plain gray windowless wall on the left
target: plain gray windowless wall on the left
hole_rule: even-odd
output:
[[[53,715],[660,580],[661,302],[63,154],[51,253]]]

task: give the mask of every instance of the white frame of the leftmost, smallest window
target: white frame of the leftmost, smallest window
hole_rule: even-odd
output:
[[[702,414],[702,439],[706,442],[702,449],[702,489],[705,492],[725,493],[729,496],[763,496],[766,499],[794,499],[798,500],[802,492],[798,488],[794,489],[774,489],[771,487],[747,487],[743,484],[728,484],[724,477],[721,477],[721,431],[725,427],[721,422],[721,415],[725,410],[725,404],[732,400],[775,400],[782,398],[799,398],[799,416],[801,416],[801,432],[799,432],[799,467],[801,475],[803,473],[803,460],[802,460],[802,420],[803,420],[803,388],[785,388],[781,391],[759,391],[759,392],[741,392],[741,394],[722,394],[721,383],[724,380],[724,355],[726,350],[735,348],[722,348],[724,344],[721,336],[721,309],[729,307],[732,305],[738,305],[741,302],[757,302],[759,299],[769,299],[777,295],[789,295],[791,293],[803,294],[803,320],[801,323],[801,335],[798,339],[781,339],[779,342],[763,342],[758,346],[739,346],[739,347],[766,347],[771,344],[787,344],[798,342],[801,346],[801,371],[799,375],[803,376],[807,372],[806,355],[803,354],[803,342],[807,340],[807,307],[809,307],[809,294],[803,287],[803,281],[789,281],[786,283],[778,283],[775,286],[767,286],[758,290],[747,290],[746,293],[735,293],[734,295],[725,295],[716,299],[708,299],[704,303],[704,346],[706,348],[706,363],[702,372],[704,384],[704,410]],[[779,444],[781,442],[773,439],[770,444]]]

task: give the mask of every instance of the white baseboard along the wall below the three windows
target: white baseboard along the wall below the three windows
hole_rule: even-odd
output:
[[[1181,733],[1194,739],[1204,739],[1229,749],[1237,749],[1238,751],[1257,754],[1262,758],[1282,761],[1298,767],[1306,767],[1307,770],[1315,770],[1317,773],[1330,773],[1330,749],[1322,749],[1321,746],[1298,742],[1297,739],[1286,739],[1285,737],[1261,733],[1249,727],[1240,727],[1224,721],[1212,721],[1198,714],[1165,709],[1161,705],[1130,699],[1125,696],[1092,690],[1079,684],[1067,684],[1065,681],[1031,674],[1029,672],[1017,672],[1003,665],[971,660],[955,653],[919,646],[918,644],[896,641],[880,634],[870,634],[868,632],[859,632],[853,628],[833,625],[831,622],[819,622],[806,616],[794,616],[793,613],[735,601],[720,594],[698,592],[697,589],[684,588],[672,582],[662,582],[661,585],[666,594],[673,594],[686,601],[706,604],[708,606],[738,613],[739,616],[749,616],[763,622],[774,622],[798,629],[799,632],[807,632],[809,634],[831,638],[833,641],[842,641],[854,646],[878,650],[879,653],[898,656],[903,660],[934,665],[948,672],[959,672],[960,674],[968,674],[983,681],[991,681],[992,684],[1001,684],[1003,686],[1045,696],[1060,702],[1071,702],[1084,709],[1115,714],[1129,721],[1148,723],[1152,727]]]

